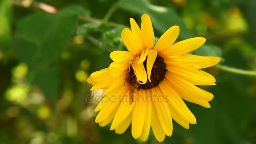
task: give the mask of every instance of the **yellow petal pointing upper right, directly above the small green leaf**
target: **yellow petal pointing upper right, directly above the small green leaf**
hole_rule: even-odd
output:
[[[199,48],[205,43],[205,40],[206,39],[203,37],[194,37],[187,40],[182,40],[172,45],[165,52],[167,52],[170,56],[179,56]]]

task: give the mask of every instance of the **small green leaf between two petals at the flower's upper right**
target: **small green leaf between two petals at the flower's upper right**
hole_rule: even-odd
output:
[[[199,56],[218,56],[222,57],[221,49],[216,45],[203,45],[200,48],[192,52]]]

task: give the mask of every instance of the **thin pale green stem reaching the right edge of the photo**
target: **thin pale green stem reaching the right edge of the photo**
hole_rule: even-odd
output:
[[[236,69],[232,67],[227,67],[221,64],[216,65],[221,70],[227,71],[227,72],[233,72],[236,74],[241,74],[241,75],[251,75],[251,76],[256,76],[256,71],[250,71],[250,70],[243,70],[243,69]]]

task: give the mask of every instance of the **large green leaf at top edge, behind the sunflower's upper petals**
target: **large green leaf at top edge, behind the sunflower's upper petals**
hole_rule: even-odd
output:
[[[121,0],[120,7],[140,15],[147,13],[152,20],[153,27],[162,33],[171,26],[178,25],[181,39],[191,37],[191,33],[173,8],[152,5],[148,0]]]

